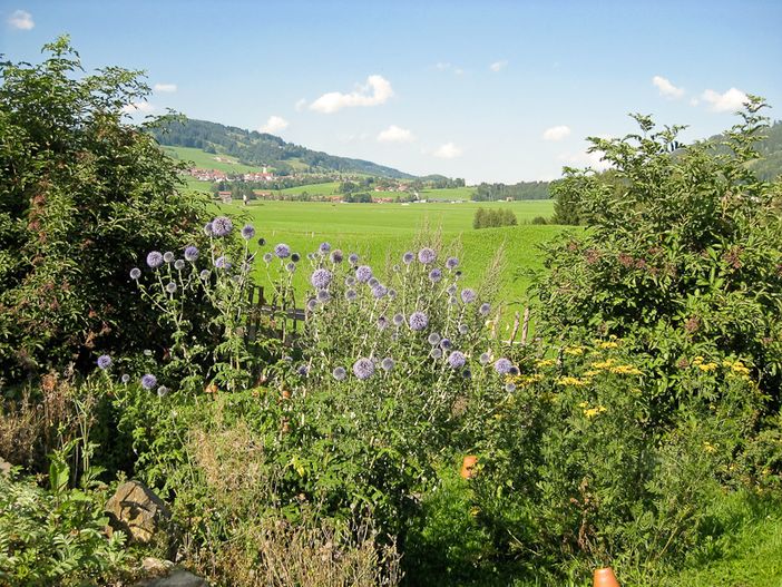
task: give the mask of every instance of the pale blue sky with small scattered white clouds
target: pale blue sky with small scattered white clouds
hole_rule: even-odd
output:
[[[265,128],[310,148],[475,182],[595,163],[627,112],[733,124],[743,92],[782,118],[782,1],[0,0],[0,52],[69,33],[87,69],[144,69],[144,111]]]

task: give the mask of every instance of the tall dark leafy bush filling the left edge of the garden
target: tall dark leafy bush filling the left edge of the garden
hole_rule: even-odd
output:
[[[160,334],[127,287],[136,252],[182,246],[202,203],[123,108],[139,72],[82,75],[67,38],[43,63],[0,63],[0,372],[7,383],[140,351]]]

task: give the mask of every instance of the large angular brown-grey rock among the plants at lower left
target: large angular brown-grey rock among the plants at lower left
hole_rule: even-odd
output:
[[[172,515],[164,501],[140,481],[119,486],[105,509],[113,529],[141,544],[148,542]]]

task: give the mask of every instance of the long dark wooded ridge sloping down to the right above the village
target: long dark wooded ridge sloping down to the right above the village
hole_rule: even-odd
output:
[[[285,143],[274,135],[206,120],[186,119],[184,123],[173,123],[167,128],[155,130],[153,134],[162,145],[193,147],[213,155],[228,155],[245,165],[268,165],[274,167],[277,174],[340,172],[394,179],[414,177],[372,162],[311,150],[293,143]]]

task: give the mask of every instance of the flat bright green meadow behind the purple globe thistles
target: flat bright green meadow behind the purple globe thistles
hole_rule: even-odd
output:
[[[514,211],[520,223],[535,216],[550,216],[551,202],[529,200],[514,203],[465,204],[326,204],[310,202],[252,202],[219,205],[233,214],[242,214],[252,222],[257,236],[263,236],[271,250],[276,243],[286,243],[293,251],[306,253],[317,250],[326,241],[345,254],[355,252],[374,267],[387,260],[398,262],[411,248],[417,233],[424,223],[430,229],[441,231],[446,251],[461,260],[465,284],[480,283],[483,271],[499,248],[505,250],[506,267],[498,300],[518,310],[526,301],[530,283],[529,271],[542,267],[542,255],[537,245],[559,234],[563,226],[521,224],[504,228],[472,228],[472,216],[478,207],[502,207]],[[254,246],[257,246],[253,242]],[[265,277],[264,264],[258,265],[257,278]],[[296,275],[296,288],[306,288],[307,272]]]

